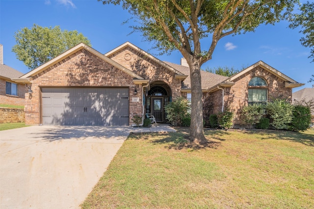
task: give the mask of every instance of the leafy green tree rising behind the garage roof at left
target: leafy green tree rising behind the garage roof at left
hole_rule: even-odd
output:
[[[16,45],[12,52],[31,70],[83,42],[91,46],[87,37],[77,30],[61,30],[60,26],[42,27],[36,24],[15,32]]]

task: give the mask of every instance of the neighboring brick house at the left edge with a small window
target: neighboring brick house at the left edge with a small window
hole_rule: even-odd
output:
[[[11,78],[18,78],[23,73],[3,64],[3,46],[0,44],[0,104],[25,104],[25,84]]]

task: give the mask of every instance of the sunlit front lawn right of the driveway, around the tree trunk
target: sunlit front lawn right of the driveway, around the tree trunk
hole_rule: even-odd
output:
[[[130,135],[83,209],[312,208],[314,130]]]

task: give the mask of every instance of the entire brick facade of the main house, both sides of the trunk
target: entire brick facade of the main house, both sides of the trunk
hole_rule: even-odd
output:
[[[135,83],[142,83],[142,81],[146,83],[148,81],[149,85],[148,88],[144,88],[145,91],[149,91],[150,87],[152,87],[152,91],[155,90],[153,89],[155,86],[158,88],[162,87],[160,89],[164,89],[168,93],[168,95],[165,96],[166,94],[163,92],[163,96],[160,96],[160,98],[165,99],[164,103],[167,103],[171,101],[171,99],[175,99],[180,96],[186,97],[186,91],[182,92],[182,78],[184,78],[183,75],[174,70],[172,67],[167,67],[168,64],[162,63],[157,58],[152,57],[146,52],[142,52],[131,44],[122,45],[121,47],[108,52],[107,57],[113,62],[111,60],[108,61],[107,58],[102,57],[103,55],[99,54],[99,52],[95,52],[93,49],[85,45],[78,45],[77,47],[79,48],[73,48],[74,50],[72,52],[70,50],[68,54],[62,55],[62,60],[59,61],[61,58],[55,59],[56,61],[52,60],[51,62],[48,62],[46,67],[43,65],[42,69],[38,68],[36,74],[26,74],[26,76],[32,75],[32,80],[30,81],[31,83],[27,84],[26,89],[30,87],[33,91],[31,97],[29,97],[28,93],[25,93],[26,124],[42,123],[41,89],[44,87],[128,88],[130,95],[130,124],[132,124],[132,118],[134,115],[142,114],[143,94],[147,95],[148,93],[142,92],[143,85],[135,85]],[[276,70],[272,71],[270,69],[271,67],[267,67],[267,65],[262,61],[260,63],[262,64],[257,63],[258,65],[252,65],[252,68],[247,68],[242,72],[242,74],[238,74],[238,76],[230,77],[231,80],[225,80],[227,77],[223,78],[223,80],[220,77],[215,77],[215,79],[219,79],[219,82],[216,81],[216,83],[223,83],[226,81],[228,83],[227,85],[231,85],[232,82],[234,85],[224,88],[224,98],[222,98],[221,89],[215,90],[215,86],[209,86],[209,90],[213,92],[204,92],[204,95],[207,97],[206,103],[210,106],[210,108],[206,109],[206,115],[217,114],[221,112],[224,101],[224,110],[228,109],[234,112],[234,123],[238,124],[240,110],[244,105],[248,104],[248,89],[251,88],[248,86],[248,83],[253,77],[261,77],[267,82],[266,87],[255,86],[254,88],[267,88],[268,101],[273,101],[274,99],[286,99],[291,101],[292,89],[286,88],[285,85],[287,80],[283,80],[287,77],[284,76],[282,79],[276,76],[278,73]],[[122,65],[127,70],[120,65]],[[270,73],[261,66],[266,66],[266,69],[274,73]],[[180,68],[180,66],[174,68],[179,68],[189,72],[189,69],[183,69]],[[135,75],[131,76],[130,74],[132,73],[128,74],[128,71],[133,72]],[[181,78],[176,78],[178,75],[180,75]],[[137,78],[138,80],[134,80],[133,77]],[[144,78],[144,80],[141,80],[140,77]],[[207,80],[211,78],[212,75],[211,77],[208,75],[208,77],[203,79]],[[189,78],[186,79],[189,81]],[[292,79],[288,78],[288,81],[291,80]],[[293,80],[291,82],[295,83]],[[137,90],[137,94],[134,94],[135,88]],[[139,98],[139,101],[132,102],[132,98]],[[147,97],[147,104],[145,104],[146,110],[147,105],[150,103],[149,98],[153,97]],[[148,107],[148,109],[150,109],[150,107]]]

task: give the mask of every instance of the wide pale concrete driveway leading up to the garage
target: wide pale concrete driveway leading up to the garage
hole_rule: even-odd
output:
[[[79,208],[130,131],[100,126],[0,131],[0,208]]]

